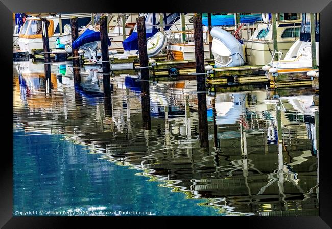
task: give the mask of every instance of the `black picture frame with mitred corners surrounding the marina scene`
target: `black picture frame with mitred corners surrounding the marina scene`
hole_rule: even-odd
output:
[[[2,151],[1,160],[1,188],[0,188],[0,225],[4,228],[53,228],[67,227],[68,222],[82,224],[87,220],[98,221],[98,225],[105,220],[127,220],[127,222],[141,222],[142,219],[155,225],[156,220],[170,222],[168,217],[13,217],[12,215],[12,12],[317,12],[320,13],[320,123],[324,124],[320,133],[320,170],[319,170],[319,216],[317,217],[181,217],[183,222],[200,221],[211,225],[211,220],[222,220],[236,225],[240,221],[249,228],[331,228],[332,226],[332,179],[330,168],[331,153],[329,152],[329,100],[328,86],[330,74],[330,59],[332,51],[332,2],[323,1],[168,1],[159,4],[151,2],[123,2],[117,4],[111,1],[24,1],[24,0],[2,0],[0,3],[0,44],[1,44],[1,66],[2,66],[2,89],[0,90],[3,112],[0,113],[2,120],[3,135],[2,143],[8,150]],[[4,71],[8,70],[8,72]],[[4,73],[6,72],[6,73]],[[325,72],[325,73],[324,73]],[[326,95],[324,95],[326,94]],[[326,127],[325,127],[326,125]],[[325,132],[326,130],[326,132]],[[4,147],[3,147],[4,149]],[[79,220],[78,220],[79,219]],[[103,222],[102,222],[102,221]],[[114,224],[113,224],[114,225]],[[140,224],[142,227],[143,224]],[[225,225],[225,224],[223,224]],[[172,225],[170,225],[172,226]],[[221,224],[220,224],[221,226]]]

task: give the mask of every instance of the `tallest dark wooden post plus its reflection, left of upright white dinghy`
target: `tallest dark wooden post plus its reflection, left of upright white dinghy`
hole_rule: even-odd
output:
[[[203,24],[202,14],[194,15],[194,41],[195,41],[195,59],[196,73],[204,73],[204,46],[203,46]],[[196,77],[197,81],[197,100],[198,100],[198,120],[200,143],[204,148],[208,148],[208,127],[206,110],[206,87],[205,75],[200,74]]]

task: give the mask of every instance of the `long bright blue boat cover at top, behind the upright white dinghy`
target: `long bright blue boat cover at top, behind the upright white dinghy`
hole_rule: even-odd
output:
[[[256,21],[262,20],[262,15],[253,14],[253,15],[240,15],[241,23],[253,23]],[[207,17],[202,17],[203,25],[208,26]],[[211,15],[212,26],[221,26],[221,25],[234,25],[235,19],[234,15]]]

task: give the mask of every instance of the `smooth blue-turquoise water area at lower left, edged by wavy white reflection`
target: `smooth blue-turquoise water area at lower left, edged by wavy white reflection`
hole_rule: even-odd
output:
[[[161,182],[135,176],[141,172],[89,154],[86,146],[64,135],[25,134],[14,131],[14,210],[37,215],[217,216],[217,209],[199,206],[204,200],[186,199],[184,193],[159,187]],[[63,213],[63,212],[66,213]],[[143,215],[143,214],[142,214]],[[145,214],[146,216],[147,214]]]

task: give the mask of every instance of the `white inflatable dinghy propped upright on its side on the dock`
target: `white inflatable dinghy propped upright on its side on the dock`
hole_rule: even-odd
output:
[[[214,27],[211,36],[215,67],[236,67],[245,64],[242,44],[233,35],[220,27]]]

